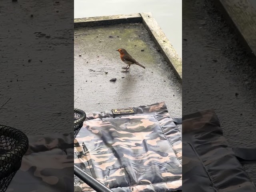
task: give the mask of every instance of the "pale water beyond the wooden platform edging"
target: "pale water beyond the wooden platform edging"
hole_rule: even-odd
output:
[[[74,0],[74,18],[151,12],[182,57],[182,0]]]

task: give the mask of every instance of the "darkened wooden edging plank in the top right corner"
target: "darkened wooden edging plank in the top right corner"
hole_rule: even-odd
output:
[[[256,57],[256,9],[252,0],[214,0]]]

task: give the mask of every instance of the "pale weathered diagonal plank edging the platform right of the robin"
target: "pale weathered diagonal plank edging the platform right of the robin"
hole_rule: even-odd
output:
[[[154,41],[160,48],[164,57],[168,60],[169,64],[174,68],[180,79],[182,80],[182,59],[173,48],[172,44],[165,36],[164,32],[157,24],[156,20],[152,17],[151,13],[141,13],[142,22],[152,35]]]

